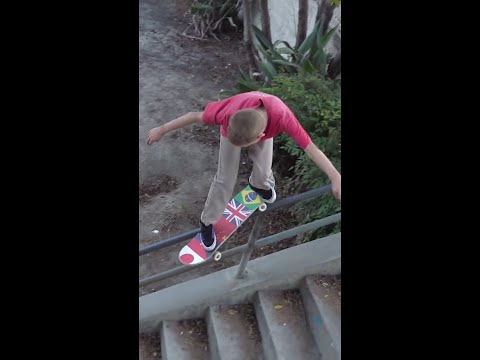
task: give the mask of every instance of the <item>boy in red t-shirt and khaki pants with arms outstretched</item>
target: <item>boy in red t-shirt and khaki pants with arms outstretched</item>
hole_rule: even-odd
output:
[[[204,111],[189,112],[148,132],[147,144],[166,133],[192,124],[220,126],[218,169],[200,217],[202,244],[207,251],[216,246],[213,224],[230,200],[237,179],[241,148],[249,147],[253,162],[250,187],[265,203],[276,199],[272,172],[273,137],[288,134],[332,183],[332,193],[341,201],[341,175],[325,154],[312,142],[287,105],[278,97],[260,91],[234,95],[210,102]]]

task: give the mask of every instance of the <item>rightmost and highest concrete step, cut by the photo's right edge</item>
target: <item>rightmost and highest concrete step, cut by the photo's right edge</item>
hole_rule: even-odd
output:
[[[306,319],[322,360],[340,360],[340,302],[336,294],[330,294],[328,287],[317,280],[316,276],[307,276],[300,290]]]

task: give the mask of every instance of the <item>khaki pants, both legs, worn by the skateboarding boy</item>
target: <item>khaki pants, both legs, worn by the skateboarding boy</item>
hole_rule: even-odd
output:
[[[205,225],[214,224],[223,214],[231,200],[237,180],[240,153],[242,148],[233,145],[226,137],[220,136],[218,169],[213,178],[201,220]],[[248,149],[253,162],[250,184],[268,190],[275,186],[272,172],[273,138],[253,144]]]

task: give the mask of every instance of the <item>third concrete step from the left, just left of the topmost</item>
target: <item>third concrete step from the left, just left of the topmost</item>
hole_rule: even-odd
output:
[[[259,291],[255,313],[267,360],[318,360],[299,290]]]

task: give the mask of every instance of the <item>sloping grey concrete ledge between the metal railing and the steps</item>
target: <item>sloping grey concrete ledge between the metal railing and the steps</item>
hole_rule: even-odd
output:
[[[139,330],[158,331],[163,320],[201,318],[210,305],[253,302],[259,290],[300,287],[307,275],[341,272],[341,233],[253,261],[243,279],[238,265],[139,298]]]

